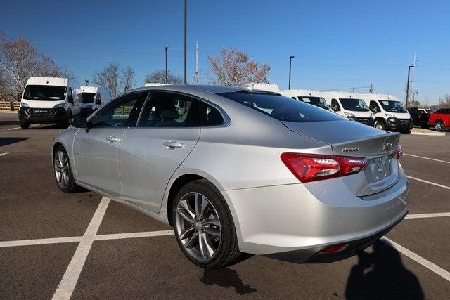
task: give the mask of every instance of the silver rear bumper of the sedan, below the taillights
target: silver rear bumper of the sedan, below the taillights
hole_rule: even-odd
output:
[[[236,223],[240,251],[295,263],[335,261],[373,244],[409,211],[403,170],[395,185],[370,197],[356,197],[344,184],[338,190],[339,184],[327,187],[322,182],[321,192],[307,187],[317,183],[222,192]],[[343,243],[347,246],[340,252],[319,254]]]

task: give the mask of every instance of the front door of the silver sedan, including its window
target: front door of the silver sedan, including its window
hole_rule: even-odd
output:
[[[148,92],[128,93],[106,105],[77,132],[73,153],[77,180],[108,195],[120,195],[117,155],[129,126],[135,126]]]

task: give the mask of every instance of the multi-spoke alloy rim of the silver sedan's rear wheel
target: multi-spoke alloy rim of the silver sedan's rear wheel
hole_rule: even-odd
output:
[[[209,261],[221,245],[217,210],[200,193],[187,193],[176,206],[176,233],[186,252],[198,261]]]

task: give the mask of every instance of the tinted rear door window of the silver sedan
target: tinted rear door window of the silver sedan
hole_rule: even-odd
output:
[[[139,126],[183,127],[199,126],[198,100],[177,93],[150,92]]]

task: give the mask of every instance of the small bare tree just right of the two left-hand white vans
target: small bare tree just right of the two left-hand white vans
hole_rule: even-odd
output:
[[[132,67],[121,69],[118,63],[110,63],[108,67],[94,73],[94,84],[110,91],[115,97],[134,86],[134,70]]]

